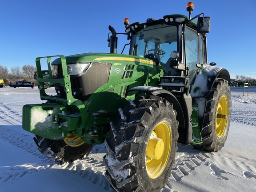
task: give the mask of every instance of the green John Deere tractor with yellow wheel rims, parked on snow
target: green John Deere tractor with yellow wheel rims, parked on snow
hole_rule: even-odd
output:
[[[210,18],[166,15],[109,26],[110,53],[36,58],[44,104],[23,107],[23,129],[52,160],[83,158],[105,144],[105,176],[116,191],[158,192],[175,162],[177,142],[217,152],[231,120],[226,69],[208,65]],[[197,19],[197,22],[194,19]],[[117,35],[129,55],[117,54]],[[56,59],[52,59],[56,58]],[[42,73],[46,61],[49,74]],[[45,92],[54,84],[56,95]]]

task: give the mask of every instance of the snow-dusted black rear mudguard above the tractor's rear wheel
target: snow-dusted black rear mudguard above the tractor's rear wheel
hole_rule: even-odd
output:
[[[230,81],[230,75],[226,69],[211,65],[204,65],[204,68],[200,69],[199,74],[196,75],[194,84],[190,91],[191,97],[208,96],[216,78],[224,79],[228,82]]]

